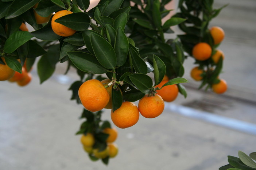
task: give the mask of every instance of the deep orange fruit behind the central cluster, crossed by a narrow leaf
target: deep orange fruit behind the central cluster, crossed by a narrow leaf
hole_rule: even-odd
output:
[[[155,88],[157,87],[161,88],[162,85],[166,84],[167,82],[168,82],[167,80],[162,81],[160,82],[160,84],[156,85]],[[159,96],[162,97],[164,101],[171,102],[177,98],[179,94],[179,89],[176,84],[173,84],[173,85],[164,86],[162,89],[156,90],[156,92]]]

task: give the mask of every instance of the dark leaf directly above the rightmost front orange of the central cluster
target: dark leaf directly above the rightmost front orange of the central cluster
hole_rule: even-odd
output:
[[[130,80],[132,83],[142,92],[145,94],[150,93],[150,88],[152,88],[153,82],[152,79],[147,76],[146,74],[131,74],[129,75]]]

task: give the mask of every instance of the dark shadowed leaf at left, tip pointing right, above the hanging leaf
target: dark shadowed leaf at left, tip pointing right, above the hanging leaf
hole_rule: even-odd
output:
[[[35,41],[28,41],[28,55],[27,58],[35,58],[38,56],[42,56],[46,51]]]

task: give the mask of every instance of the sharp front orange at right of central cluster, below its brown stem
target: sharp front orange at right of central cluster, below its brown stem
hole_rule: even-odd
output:
[[[138,105],[140,114],[146,118],[158,117],[164,110],[164,101],[161,96],[148,96],[146,94],[140,99]]]

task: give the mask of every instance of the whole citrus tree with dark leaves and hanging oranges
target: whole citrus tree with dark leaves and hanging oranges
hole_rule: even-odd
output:
[[[75,68],[80,79],[69,90],[85,120],[76,134],[93,161],[107,164],[118,152],[117,130],[101,119],[102,109],[111,109],[118,128],[135,125],[140,114],[159,116],[164,101],[187,96],[181,83],[188,82],[182,78],[188,57],[197,65],[191,77],[202,82],[199,88],[227,89],[217,49],[224,31],[208,28],[222,8],[213,9],[213,0],[180,0],[178,12],[163,22],[170,1],[100,0],[88,10],[89,0],[1,0],[0,80],[27,85],[35,63],[40,84],[58,63],[67,63],[66,73]],[[166,39],[175,25],[184,33]]]

